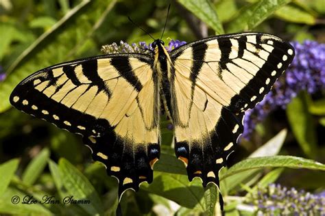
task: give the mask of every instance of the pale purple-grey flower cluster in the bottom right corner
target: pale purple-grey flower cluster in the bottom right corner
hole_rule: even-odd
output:
[[[278,184],[259,187],[248,203],[258,207],[257,215],[325,215],[325,196],[287,189]]]

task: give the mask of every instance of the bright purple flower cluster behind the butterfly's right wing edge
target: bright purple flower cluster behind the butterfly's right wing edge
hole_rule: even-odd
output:
[[[282,75],[274,83],[273,89],[254,109],[245,112],[243,137],[248,139],[256,123],[278,107],[285,109],[297,94],[305,90],[309,94],[325,89],[325,44],[306,40],[300,44],[291,43],[296,57]]]

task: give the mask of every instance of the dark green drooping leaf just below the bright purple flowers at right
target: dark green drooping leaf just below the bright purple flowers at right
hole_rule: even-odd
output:
[[[300,148],[310,158],[315,158],[317,150],[317,137],[313,116],[309,113],[309,96],[306,92],[291,100],[287,105],[287,117],[291,130],[295,135]]]

